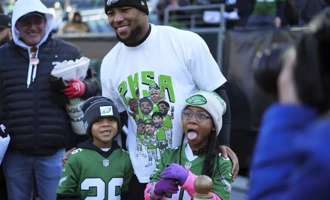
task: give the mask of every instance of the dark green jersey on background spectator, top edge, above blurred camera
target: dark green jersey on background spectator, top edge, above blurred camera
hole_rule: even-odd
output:
[[[253,14],[276,16],[277,3],[285,0],[256,0]]]

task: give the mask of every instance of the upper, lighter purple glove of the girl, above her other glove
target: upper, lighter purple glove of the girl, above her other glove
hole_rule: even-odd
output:
[[[187,181],[189,172],[181,165],[173,163],[170,164],[161,174],[162,179],[176,179],[179,181],[179,185],[183,185]]]

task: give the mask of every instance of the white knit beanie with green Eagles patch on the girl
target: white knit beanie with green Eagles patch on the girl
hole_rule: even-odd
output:
[[[185,99],[183,109],[185,110],[188,106],[200,107],[206,110],[213,118],[215,131],[217,136],[222,127],[222,115],[226,111],[226,103],[223,99],[215,92],[209,92],[206,90],[199,90],[197,93],[190,95]],[[180,114],[180,122],[182,126],[182,112]]]

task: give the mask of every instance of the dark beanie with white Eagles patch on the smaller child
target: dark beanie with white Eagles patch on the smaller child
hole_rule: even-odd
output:
[[[91,97],[81,106],[81,110],[84,112],[85,131],[91,137],[93,124],[102,117],[114,118],[118,123],[117,134],[121,131],[120,115],[111,99],[103,96]]]

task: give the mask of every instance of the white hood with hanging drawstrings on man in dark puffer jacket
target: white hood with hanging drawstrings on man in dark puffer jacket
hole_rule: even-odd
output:
[[[45,35],[44,35],[43,39],[36,45],[36,47],[38,47],[38,51],[39,51],[39,46],[42,45],[47,40],[49,33],[51,32],[53,18],[54,18],[52,12],[42,2],[40,2],[40,0],[18,0],[15,3],[14,9],[13,9],[13,14],[11,17],[13,40],[16,45],[18,45],[24,49],[27,49],[27,51],[29,52],[30,58],[31,58],[30,48],[32,46],[28,46],[23,41],[19,40],[19,32],[17,31],[15,25],[16,25],[16,21],[20,17],[22,17],[28,13],[31,13],[31,12],[44,13],[46,16]],[[38,51],[36,53],[36,56],[38,55]],[[34,79],[36,77],[37,66],[34,66],[33,73],[32,73],[32,68],[33,68],[33,66],[31,64],[29,64],[28,78],[27,78],[28,87],[30,86],[30,83],[31,83],[31,77],[32,77],[32,81],[34,81]]]

